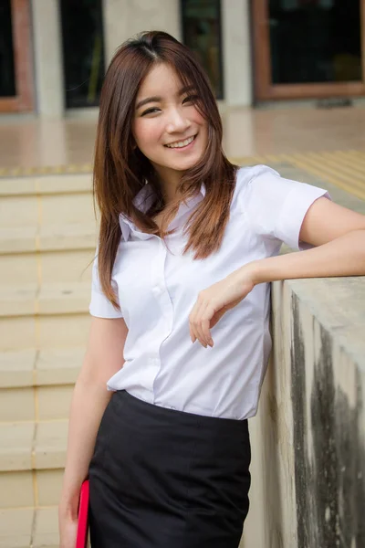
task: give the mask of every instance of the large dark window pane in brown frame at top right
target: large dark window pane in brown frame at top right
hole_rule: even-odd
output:
[[[359,0],[269,0],[272,81],[361,81]]]

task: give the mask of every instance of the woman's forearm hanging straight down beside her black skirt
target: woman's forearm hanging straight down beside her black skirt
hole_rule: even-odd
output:
[[[101,417],[112,392],[100,382],[86,382],[81,376],[75,385],[69,414],[68,451],[60,508],[76,517],[81,484],[86,479]]]

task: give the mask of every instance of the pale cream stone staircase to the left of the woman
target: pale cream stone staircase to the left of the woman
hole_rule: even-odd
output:
[[[58,547],[96,235],[90,174],[0,178],[0,548]]]

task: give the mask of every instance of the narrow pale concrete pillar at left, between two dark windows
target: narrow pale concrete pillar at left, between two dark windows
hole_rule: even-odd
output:
[[[33,0],[36,102],[39,117],[62,117],[64,85],[58,0]]]

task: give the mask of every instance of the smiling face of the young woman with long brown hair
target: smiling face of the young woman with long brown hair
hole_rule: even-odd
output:
[[[165,63],[151,68],[137,95],[133,137],[165,183],[198,163],[208,144],[208,123],[192,96],[196,90],[184,89]]]

